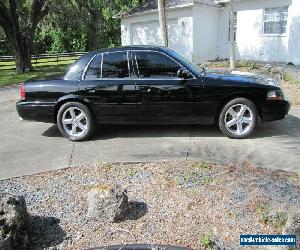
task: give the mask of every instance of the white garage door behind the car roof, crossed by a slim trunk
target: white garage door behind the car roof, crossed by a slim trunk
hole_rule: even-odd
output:
[[[178,40],[178,21],[177,19],[171,19],[168,21],[168,38],[169,47],[171,49],[180,51],[180,44]],[[144,22],[135,23],[132,25],[131,30],[132,45],[161,45],[161,39],[159,35],[159,22]]]

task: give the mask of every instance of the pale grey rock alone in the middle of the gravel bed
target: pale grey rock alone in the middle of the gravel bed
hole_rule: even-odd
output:
[[[119,186],[99,185],[88,193],[88,213],[91,219],[117,222],[128,213],[127,191]]]

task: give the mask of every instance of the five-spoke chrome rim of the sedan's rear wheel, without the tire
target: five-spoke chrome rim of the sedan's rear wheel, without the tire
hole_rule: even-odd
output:
[[[88,129],[86,114],[77,107],[70,107],[62,115],[64,130],[71,136],[81,136]]]

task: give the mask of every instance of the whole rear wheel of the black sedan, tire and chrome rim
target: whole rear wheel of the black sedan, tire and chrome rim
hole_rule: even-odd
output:
[[[83,141],[93,134],[95,121],[87,106],[68,102],[57,113],[57,125],[64,137],[71,141]]]

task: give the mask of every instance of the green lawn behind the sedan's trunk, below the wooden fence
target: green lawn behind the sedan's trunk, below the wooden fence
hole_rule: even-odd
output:
[[[43,59],[38,67],[34,67],[34,71],[17,74],[14,69],[0,69],[0,86],[13,85],[26,80],[41,80],[61,77],[64,75],[68,66],[74,62],[73,60],[60,62],[47,62]],[[34,64],[33,64],[34,66]]]

